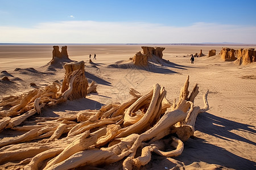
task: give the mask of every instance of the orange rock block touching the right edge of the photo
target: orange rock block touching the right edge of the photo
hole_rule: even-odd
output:
[[[251,62],[256,62],[256,51],[253,48],[250,49],[238,49],[236,50],[237,60],[235,63],[246,65]]]

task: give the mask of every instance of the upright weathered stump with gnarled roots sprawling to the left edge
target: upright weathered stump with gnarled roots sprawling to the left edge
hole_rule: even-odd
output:
[[[36,88],[19,96],[4,97],[1,107],[10,109],[0,111],[0,131],[5,128],[14,128],[35,113],[41,113],[43,107],[63,103],[67,99],[85,97],[88,92],[95,92],[97,85],[92,82],[88,88],[84,74],[84,62],[72,62],[64,65],[66,73],[63,86],[58,82],[46,86],[44,89]]]

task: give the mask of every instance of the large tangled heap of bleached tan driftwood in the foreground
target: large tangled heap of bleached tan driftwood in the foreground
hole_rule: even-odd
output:
[[[65,82],[69,82],[70,86],[64,95],[53,95],[55,101],[59,100],[57,97],[72,94],[70,92],[75,87],[72,84],[76,79],[72,75],[77,74],[81,78],[79,70],[67,74],[70,79]],[[152,152],[167,157],[180,155],[184,149],[182,141],[187,141],[195,131],[197,114],[209,109],[208,91],[203,96],[204,108],[195,107],[193,101],[199,93],[199,87],[196,84],[189,96],[188,86],[189,76],[181,88],[179,101],[176,103],[174,100],[172,107],[166,99],[164,87],[155,84],[146,95],[131,89],[133,99],[123,104],[113,103],[99,110],[80,111],[72,117],[39,117],[35,121],[36,125],[31,126],[18,126],[14,120],[11,124],[11,118],[2,119],[0,127],[10,126],[13,130],[27,132],[0,141],[0,163],[32,157],[23,169],[71,169],[84,165],[110,164],[124,159],[123,169],[132,169],[150,162]],[[6,100],[9,99],[14,97]],[[40,106],[44,104],[42,95],[32,100],[35,101],[35,108],[28,112],[39,112]],[[172,137],[172,134],[178,138]],[[42,142],[26,143],[34,139],[41,139]],[[171,143],[175,150],[164,151],[167,143]],[[138,152],[141,155],[136,157]]]

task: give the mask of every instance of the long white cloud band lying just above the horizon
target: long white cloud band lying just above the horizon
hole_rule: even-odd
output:
[[[139,22],[67,21],[33,28],[0,27],[0,42],[36,43],[192,43],[256,44],[256,27],[195,23],[187,27]]]

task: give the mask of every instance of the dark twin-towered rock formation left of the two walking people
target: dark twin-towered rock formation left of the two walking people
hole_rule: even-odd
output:
[[[59,50],[59,46],[54,45],[52,50],[52,60],[50,61],[51,65],[58,65],[60,62],[72,62],[71,59],[68,58],[67,46],[61,47],[61,52]]]

